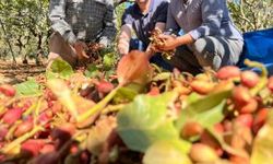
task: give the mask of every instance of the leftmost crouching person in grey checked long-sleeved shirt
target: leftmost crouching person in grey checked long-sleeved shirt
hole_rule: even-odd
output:
[[[48,67],[58,57],[75,67],[88,58],[86,43],[106,48],[117,33],[112,0],[50,0],[49,20]]]

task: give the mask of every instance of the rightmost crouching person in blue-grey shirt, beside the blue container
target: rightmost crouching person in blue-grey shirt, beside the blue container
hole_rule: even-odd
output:
[[[230,20],[225,0],[171,0],[166,30],[183,35],[162,35],[166,44],[159,50],[177,49],[171,65],[193,74],[210,67],[218,70],[236,65],[244,39]]]

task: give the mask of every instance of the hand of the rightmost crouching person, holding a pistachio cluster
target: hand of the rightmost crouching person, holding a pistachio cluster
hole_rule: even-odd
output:
[[[162,46],[157,46],[156,49],[161,51],[167,51],[176,49],[176,47],[179,46],[178,39],[174,35],[159,35],[159,38],[164,40],[164,44]]]

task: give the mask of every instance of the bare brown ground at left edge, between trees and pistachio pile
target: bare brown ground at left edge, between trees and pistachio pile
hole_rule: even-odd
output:
[[[35,61],[23,63],[17,60],[13,63],[11,60],[0,60],[0,84],[16,84],[27,80],[28,77],[37,77],[46,71],[45,62],[36,65]]]

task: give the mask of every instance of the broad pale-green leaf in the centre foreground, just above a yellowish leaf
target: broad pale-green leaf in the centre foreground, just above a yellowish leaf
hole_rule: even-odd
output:
[[[158,96],[139,95],[118,114],[117,131],[127,147],[145,150],[158,140],[179,139],[167,106],[177,97],[175,92]]]

